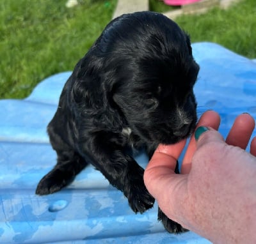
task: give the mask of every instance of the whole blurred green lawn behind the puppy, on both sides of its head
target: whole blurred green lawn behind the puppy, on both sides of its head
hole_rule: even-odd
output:
[[[148,2],[151,11],[180,10],[163,1]],[[73,70],[113,18],[117,4],[118,0],[0,1],[0,99],[25,98],[49,75]],[[181,14],[175,22],[190,34],[191,42],[215,42],[256,57],[255,0]]]

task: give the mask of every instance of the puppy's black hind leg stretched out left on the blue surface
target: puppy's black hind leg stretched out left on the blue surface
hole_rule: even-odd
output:
[[[36,194],[47,195],[58,192],[70,184],[87,163],[76,151],[57,151],[55,167],[38,183]]]

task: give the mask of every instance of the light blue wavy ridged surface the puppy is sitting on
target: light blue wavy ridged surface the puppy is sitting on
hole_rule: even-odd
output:
[[[194,43],[193,53],[200,65],[198,116],[219,112],[224,137],[238,114],[256,119],[255,61],[214,43]],[[92,166],[61,192],[35,195],[56,164],[46,126],[70,73],[43,80],[24,100],[0,100],[0,243],[209,243],[191,232],[166,233],[157,222],[157,203],[135,215],[122,192]],[[143,153],[136,160],[147,164]]]

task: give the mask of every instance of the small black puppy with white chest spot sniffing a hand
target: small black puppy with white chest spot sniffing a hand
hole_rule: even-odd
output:
[[[175,22],[150,11],[111,21],[77,63],[47,131],[58,162],[36,188],[57,192],[91,163],[143,213],[154,198],[132,157],[159,143],[173,144],[195,128],[193,85],[199,67],[189,37]],[[158,215],[170,233],[185,231]]]

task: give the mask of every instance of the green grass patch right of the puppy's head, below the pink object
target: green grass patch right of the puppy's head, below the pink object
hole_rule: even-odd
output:
[[[187,15],[176,22],[192,42],[216,42],[249,58],[256,58],[256,4],[244,0],[228,10],[213,8],[203,15]]]

